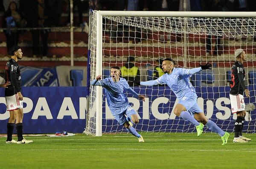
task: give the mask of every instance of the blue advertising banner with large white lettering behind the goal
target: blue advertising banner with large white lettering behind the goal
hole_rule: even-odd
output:
[[[256,86],[254,86],[255,88]],[[86,87],[22,87],[23,94],[23,131],[24,133],[81,133],[86,126],[87,91]],[[134,87],[146,101],[138,100],[131,94],[128,99],[138,112],[138,131],[192,132],[195,127],[178,118],[174,113],[177,99],[174,93],[165,86]],[[198,105],[207,118],[214,121],[224,131],[233,132],[236,115],[230,111],[229,87],[196,87]],[[249,86],[250,98],[245,97],[245,104],[255,104],[255,91]],[[105,94],[105,90],[103,89]],[[6,111],[4,89],[0,88],[0,133],[6,133],[9,112]],[[103,97],[102,131],[126,131],[117,125]],[[255,131],[256,112],[250,110],[244,122],[247,130],[250,121],[251,130]],[[206,130],[209,131],[209,130]],[[16,130],[14,130],[16,132]]]

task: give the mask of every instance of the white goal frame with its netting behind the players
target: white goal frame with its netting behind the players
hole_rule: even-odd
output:
[[[230,70],[236,61],[234,51],[242,48],[247,54],[245,84],[250,90],[250,98],[244,95],[247,113],[243,132],[255,132],[256,17],[252,16],[256,13],[92,11],[90,81],[98,75],[109,77],[110,68],[127,65],[129,56],[135,57],[141,81],[157,78],[153,70],[159,58],[171,57],[180,68],[210,62],[212,70],[196,73],[190,82],[207,118],[224,131],[233,132],[236,114],[230,110]],[[137,131],[196,132],[192,124],[173,113],[177,99],[168,86],[130,86],[148,96],[143,102],[125,93],[140,119],[134,125]],[[102,87],[90,86],[84,132],[98,136],[127,132],[111,115]]]

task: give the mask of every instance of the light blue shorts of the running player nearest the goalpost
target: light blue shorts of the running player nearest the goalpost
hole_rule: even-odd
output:
[[[116,114],[117,111],[119,112],[119,114]],[[115,114],[113,114],[113,112]],[[112,115],[118,121],[118,123],[121,124],[121,125],[123,125],[126,121],[125,115],[130,117],[131,115],[136,114],[135,110],[133,108],[131,108],[130,105],[127,105],[126,107],[122,107],[121,109],[115,110],[113,112],[111,111]]]

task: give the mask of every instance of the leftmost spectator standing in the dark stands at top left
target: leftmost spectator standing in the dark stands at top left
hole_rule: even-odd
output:
[[[3,28],[21,28],[26,25],[26,20],[23,20],[17,9],[15,1],[9,4],[8,10],[3,15]],[[12,46],[18,44],[20,31],[5,30],[7,51]]]

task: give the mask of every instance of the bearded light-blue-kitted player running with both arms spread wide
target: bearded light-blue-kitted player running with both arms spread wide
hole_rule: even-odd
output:
[[[224,132],[213,121],[206,118],[203,111],[197,104],[198,96],[195,93],[195,88],[189,82],[189,77],[192,74],[200,72],[201,70],[211,69],[210,67],[212,65],[208,62],[206,65],[199,65],[200,68],[193,69],[174,68],[174,66],[175,61],[173,59],[164,59],[163,71],[165,74],[156,80],[140,82],[140,85],[168,85],[179,100],[174,109],[175,115],[194,124],[198,136],[202,134],[203,128],[206,126],[209,128],[209,130],[216,132],[221,136],[223,141],[222,145],[227,144],[229,133]]]

